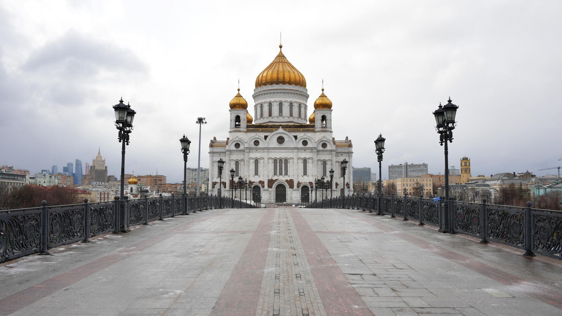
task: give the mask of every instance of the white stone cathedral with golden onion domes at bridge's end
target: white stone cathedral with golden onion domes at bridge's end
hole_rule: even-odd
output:
[[[332,101],[322,88],[307,116],[305,76],[283,55],[282,47],[279,45],[275,59],[257,75],[252,94],[253,118],[238,88],[229,103],[229,137],[226,141],[214,137],[209,144],[212,195],[219,192],[221,184],[222,195],[231,195],[230,169],[235,170],[235,181],[239,176],[247,180],[248,200],[256,202],[310,202],[314,200],[314,180],[329,180],[330,169],[334,170],[333,191],[318,189],[318,200],[353,192],[353,146],[347,137],[345,141],[332,137]],[[221,184],[219,159],[225,161]],[[345,179],[340,165],[344,159],[348,161]],[[237,196],[241,196],[240,192]]]

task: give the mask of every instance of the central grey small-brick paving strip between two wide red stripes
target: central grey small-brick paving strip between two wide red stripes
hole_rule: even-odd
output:
[[[286,208],[275,211],[272,232],[256,316],[326,315]]]

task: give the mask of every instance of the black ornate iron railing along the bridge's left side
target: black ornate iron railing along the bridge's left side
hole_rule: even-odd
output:
[[[119,201],[0,210],[0,262],[115,231]],[[153,220],[219,207],[254,208],[256,204],[219,196],[159,196],[125,200],[120,225],[148,224]],[[119,227],[117,227],[119,229]],[[123,228],[121,228],[123,229]]]

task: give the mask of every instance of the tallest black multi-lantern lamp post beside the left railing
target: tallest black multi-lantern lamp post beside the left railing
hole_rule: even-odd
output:
[[[119,200],[119,227],[115,227],[113,233],[126,233],[130,229],[128,227],[127,220],[128,214],[126,214],[126,201],[125,201],[125,145],[129,145],[129,134],[133,132],[133,119],[135,117],[135,112],[131,109],[130,105],[125,105],[123,103],[123,98],[119,100],[119,103],[113,106],[115,111],[115,127],[119,130],[119,142],[121,143],[121,193]]]

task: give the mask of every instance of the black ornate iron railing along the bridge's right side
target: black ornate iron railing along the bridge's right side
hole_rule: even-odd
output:
[[[488,205],[486,200],[480,204],[451,200],[444,212],[441,201],[441,198],[354,195],[327,198],[306,207],[366,210],[418,220],[420,225],[433,225],[440,231],[447,224],[449,233],[481,238],[482,243],[493,241],[517,247],[525,250],[527,256],[537,252],[562,259],[562,211],[533,209],[530,202],[528,207],[515,207]]]

